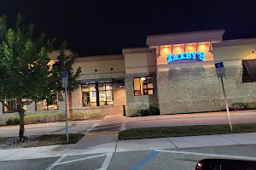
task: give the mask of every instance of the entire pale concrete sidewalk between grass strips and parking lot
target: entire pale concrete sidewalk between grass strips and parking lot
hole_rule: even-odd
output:
[[[77,144],[0,150],[1,161],[35,159],[54,156],[112,153],[134,150],[163,150],[206,146],[256,144],[256,133],[138,139],[118,141],[118,134],[84,136]]]

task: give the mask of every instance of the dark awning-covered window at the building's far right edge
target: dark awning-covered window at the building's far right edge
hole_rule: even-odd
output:
[[[256,59],[242,60],[242,82],[256,82]]]

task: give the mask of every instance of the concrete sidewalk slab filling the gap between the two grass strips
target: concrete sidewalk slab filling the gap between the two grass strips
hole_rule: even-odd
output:
[[[66,155],[82,155],[114,152],[118,141],[118,134],[101,134],[84,136]]]

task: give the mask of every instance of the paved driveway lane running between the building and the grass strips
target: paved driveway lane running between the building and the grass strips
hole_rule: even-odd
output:
[[[256,122],[256,112],[233,111],[233,123]],[[188,126],[196,124],[229,123],[226,112],[196,113],[165,116],[106,116],[102,120],[68,122],[70,133],[119,131],[132,127]],[[25,135],[43,133],[65,133],[65,122],[52,122],[26,125]],[[18,136],[19,126],[0,127],[0,137]]]

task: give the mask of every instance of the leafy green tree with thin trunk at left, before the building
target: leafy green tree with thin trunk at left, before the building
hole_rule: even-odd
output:
[[[67,71],[70,89],[77,86],[76,78],[80,69],[73,74],[72,65],[76,55],[66,56],[64,48],[67,42],[62,43],[61,54],[52,67],[49,65],[48,54],[53,49],[53,41],[45,41],[44,33],[33,39],[33,25],[21,26],[21,14],[18,14],[15,28],[7,28],[6,17],[0,17],[0,102],[9,110],[10,105],[4,99],[16,99],[17,111],[20,115],[20,133],[18,141],[24,140],[23,105],[32,101],[41,101],[54,97],[61,92],[61,71]],[[29,99],[25,102],[24,99]]]

